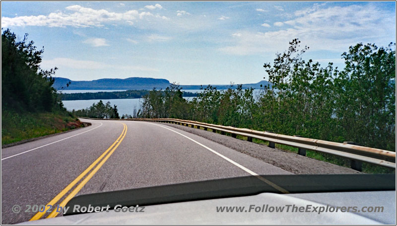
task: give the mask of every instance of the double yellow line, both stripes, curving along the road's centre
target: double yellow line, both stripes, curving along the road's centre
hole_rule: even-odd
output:
[[[110,155],[113,154],[113,152],[119,147],[120,143],[123,141],[123,139],[126,137],[127,134],[127,125],[124,124],[124,129],[119,138],[105,151],[99,156],[88,168],[86,168],[80,175],[76,177],[69,185],[66,186],[64,190],[62,190],[57,196],[55,196],[45,207],[45,210],[42,212],[38,212],[33,216],[30,221],[35,221],[39,220],[43,215],[46,214],[46,212],[50,209],[50,205],[53,207],[53,211],[47,218],[54,218],[56,217],[59,213],[56,211],[56,207],[54,207],[55,204],[58,203],[58,201],[66,195],[67,192],[69,192],[88,172],[89,174],[66,196],[66,198],[61,202],[60,206],[65,207],[67,202],[71,198],[73,198],[80,190],[83,188],[83,186],[91,179],[92,176],[101,168],[101,166],[108,160]],[[109,153],[109,154],[108,154]],[[106,155],[108,154],[108,155]],[[105,156],[106,155],[106,156]],[[102,159],[102,160],[101,160]],[[99,162],[99,164],[98,164]],[[96,166],[94,168],[94,166]],[[94,168],[92,171],[91,169]],[[91,172],[90,172],[91,171]]]

